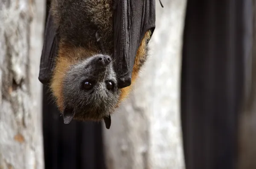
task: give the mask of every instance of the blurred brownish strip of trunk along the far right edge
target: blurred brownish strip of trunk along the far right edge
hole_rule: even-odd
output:
[[[245,0],[244,39],[245,88],[244,107],[239,128],[238,169],[256,168],[256,1]]]

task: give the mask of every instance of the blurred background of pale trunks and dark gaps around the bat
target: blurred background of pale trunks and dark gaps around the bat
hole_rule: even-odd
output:
[[[38,80],[50,0],[0,0],[0,169],[256,169],[255,0],[161,2],[105,129],[64,125]]]

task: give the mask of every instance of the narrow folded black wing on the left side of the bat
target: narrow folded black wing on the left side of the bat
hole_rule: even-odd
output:
[[[41,54],[39,81],[49,83],[54,69],[54,61],[58,52],[58,36],[53,28],[52,15],[49,13],[44,34],[44,45]]]

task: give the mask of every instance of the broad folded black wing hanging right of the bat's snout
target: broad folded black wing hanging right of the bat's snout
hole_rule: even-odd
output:
[[[155,29],[155,0],[116,0],[113,7],[113,32],[118,86],[131,85],[137,49],[144,34]],[[151,34],[151,35],[152,35]]]

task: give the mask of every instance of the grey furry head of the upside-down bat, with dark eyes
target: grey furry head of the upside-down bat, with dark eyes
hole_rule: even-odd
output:
[[[63,80],[64,123],[75,119],[101,120],[119,101],[113,62],[108,55],[94,55],[74,64]]]

